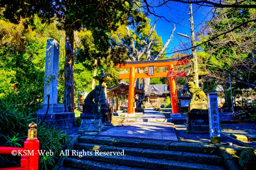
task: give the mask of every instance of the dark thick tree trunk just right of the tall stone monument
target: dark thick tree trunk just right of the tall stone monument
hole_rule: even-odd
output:
[[[74,112],[74,31],[65,31],[64,111]]]

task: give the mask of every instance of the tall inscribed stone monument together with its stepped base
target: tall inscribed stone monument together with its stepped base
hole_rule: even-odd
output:
[[[48,39],[46,43],[46,61],[45,61],[45,87],[44,87],[44,104],[43,108],[37,111],[38,119],[45,117],[45,121],[50,126],[61,129],[70,128],[75,125],[75,113],[64,112],[64,105],[57,103],[58,95],[58,76],[59,76],[59,41]]]

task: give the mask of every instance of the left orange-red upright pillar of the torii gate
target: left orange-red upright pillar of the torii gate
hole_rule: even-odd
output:
[[[133,114],[133,100],[135,88],[135,67],[130,68],[130,83],[129,83],[129,96],[128,96],[128,114]]]

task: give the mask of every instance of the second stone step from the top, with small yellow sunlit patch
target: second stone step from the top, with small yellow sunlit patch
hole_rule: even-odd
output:
[[[132,147],[116,147],[108,145],[97,145],[92,143],[77,143],[75,145],[76,150],[93,151],[99,150],[99,152],[122,152],[130,156],[139,156],[147,158],[160,158],[174,161],[202,163],[208,165],[223,165],[222,157],[210,154],[201,153],[188,153],[183,151],[171,151],[171,150],[156,150],[156,149],[142,149]]]

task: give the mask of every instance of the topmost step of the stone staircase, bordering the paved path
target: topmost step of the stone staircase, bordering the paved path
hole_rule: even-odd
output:
[[[158,141],[148,139],[131,139],[131,138],[115,138],[115,137],[96,137],[84,135],[79,138],[82,143],[94,143],[99,145],[162,149],[173,151],[185,151],[191,153],[217,154],[217,147],[211,143],[195,143],[195,142],[172,142]]]

